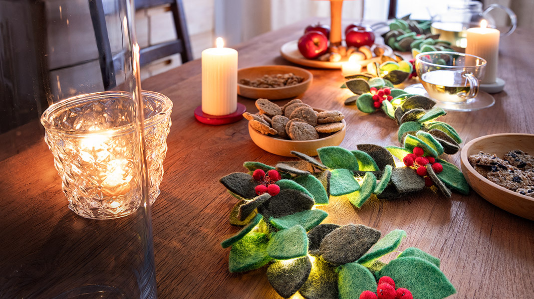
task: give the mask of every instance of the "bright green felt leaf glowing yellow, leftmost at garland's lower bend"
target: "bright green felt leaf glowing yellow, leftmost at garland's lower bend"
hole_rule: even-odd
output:
[[[268,240],[266,233],[250,232],[235,243],[230,249],[230,272],[254,270],[272,261],[267,254]]]

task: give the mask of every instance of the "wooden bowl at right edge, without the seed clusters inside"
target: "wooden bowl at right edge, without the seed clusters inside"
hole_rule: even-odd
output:
[[[503,157],[509,150],[520,149],[534,153],[534,134],[506,133],[493,134],[473,139],[461,151],[462,173],[469,185],[493,205],[517,216],[534,220],[534,198],[521,195],[501,187],[476,172],[467,158],[479,151],[494,153]]]

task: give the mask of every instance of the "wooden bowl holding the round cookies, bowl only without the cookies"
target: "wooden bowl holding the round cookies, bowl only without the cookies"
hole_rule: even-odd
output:
[[[313,108],[313,110],[321,112],[324,109]],[[326,136],[316,140],[295,141],[275,138],[269,135],[264,135],[256,131],[250,124],[248,125],[248,133],[252,141],[263,150],[266,150],[274,155],[294,157],[291,154],[292,150],[305,153],[308,156],[317,156],[317,149],[328,146],[339,146],[341,141],[345,138],[345,129],[347,123],[342,119],[341,122],[345,125],[341,131],[337,131],[332,135]]]

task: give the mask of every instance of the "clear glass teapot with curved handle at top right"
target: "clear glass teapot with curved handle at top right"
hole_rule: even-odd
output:
[[[506,6],[492,4],[482,10],[482,3],[478,1],[459,1],[447,5],[445,13],[433,17],[431,31],[440,34],[439,39],[451,42],[453,47],[465,48],[467,46],[467,29],[479,27],[480,21],[488,21],[488,27],[496,27],[495,20],[491,17],[492,10],[504,10],[510,18],[510,26],[507,30],[501,30],[501,36],[513,33],[517,27],[515,13]]]

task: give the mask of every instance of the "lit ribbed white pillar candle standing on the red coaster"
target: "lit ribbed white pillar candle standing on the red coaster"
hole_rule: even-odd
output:
[[[202,112],[220,116],[237,110],[237,51],[216,44],[202,51]]]

